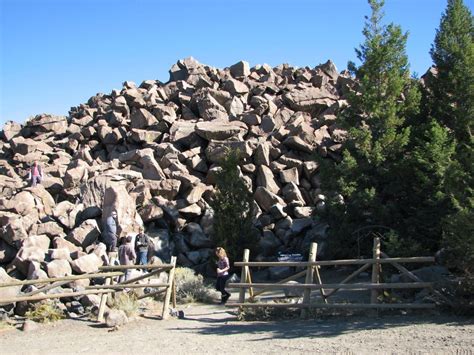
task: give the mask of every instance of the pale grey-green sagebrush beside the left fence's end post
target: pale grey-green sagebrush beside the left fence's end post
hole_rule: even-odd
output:
[[[204,284],[202,275],[194,270],[178,267],[175,271],[176,301],[178,303],[211,302],[211,290]]]

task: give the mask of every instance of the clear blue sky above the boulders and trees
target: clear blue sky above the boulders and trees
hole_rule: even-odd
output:
[[[464,0],[473,10],[474,0]],[[446,0],[386,0],[423,74]],[[0,127],[71,106],[125,80],[167,81],[193,56],[227,67],[356,60],[366,0],[0,0]]]

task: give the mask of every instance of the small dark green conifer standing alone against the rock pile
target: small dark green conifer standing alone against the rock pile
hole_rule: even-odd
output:
[[[216,194],[210,205],[214,210],[213,242],[227,251],[229,259],[240,260],[244,249],[254,249],[252,228],[253,197],[239,169],[240,152],[228,151],[216,174]]]

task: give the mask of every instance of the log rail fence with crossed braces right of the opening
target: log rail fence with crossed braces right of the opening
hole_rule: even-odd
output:
[[[390,258],[380,250],[380,239],[374,238],[372,259],[350,259],[350,260],[325,260],[316,261],[317,244],[312,243],[308,261],[281,261],[281,262],[252,262],[249,261],[249,250],[244,251],[242,262],[234,263],[241,267],[241,282],[230,283],[229,287],[239,288],[239,302],[229,303],[228,306],[242,307],[286,307],[302,308],[301,316],[305,317],[309,308],[434,308],[433,303],[383,303],[379,300],[379,292],[384,289],[413,289],[413,288],[432,288],[431,282],[423,282],[420,278],[403,267],[401,263],[433,263],[434,257],[410,257],[410,258]],[[395,267],[403,275],[406,275],[412,282],[381,283],[382,265],[389,264]],[[360,267],[347,276],[344,280],[334,284],[323,284],[320,268],[322,266],[338,265],[360,265]],[[276,283],[255,283],[252,282],[251,267],[298,267],[305,270],[298,272],[290,277]],[[372,277],[370,283],[349,283],[360,273],[372,267]],[[304,283],[288,283],[305,277]],[[303,300],[301,303],[275,303],[258,302],[256,296],[270,290],[289,289],[303,290]],[[370,303],[329,303],[328,299],[339,290],[370,290]],[[246,299],[246,291],[249,297]],[[255,291],[259,290],[259,291]],[[311,302],[311,291],[319,290],[322,301]]]

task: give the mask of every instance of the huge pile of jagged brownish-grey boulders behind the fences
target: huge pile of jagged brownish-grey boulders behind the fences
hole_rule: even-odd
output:
[[[337,112],[354,85],[328,61],[223,70],[180,60],[170,80],[125,82],[67,117],[8,122],[0,140],[0,264],[17,278],[97,270],[101,228],[118,211],[122,236],[145,229],[156,254],[206,271],[212,255],[214,174],[226,148],[258,206],[260,259],[303,252],[325,226],[315,154],[340,159]],[[28,187],[32,162],[45,179]],[[3,278],[8,277],[4,275]]]

